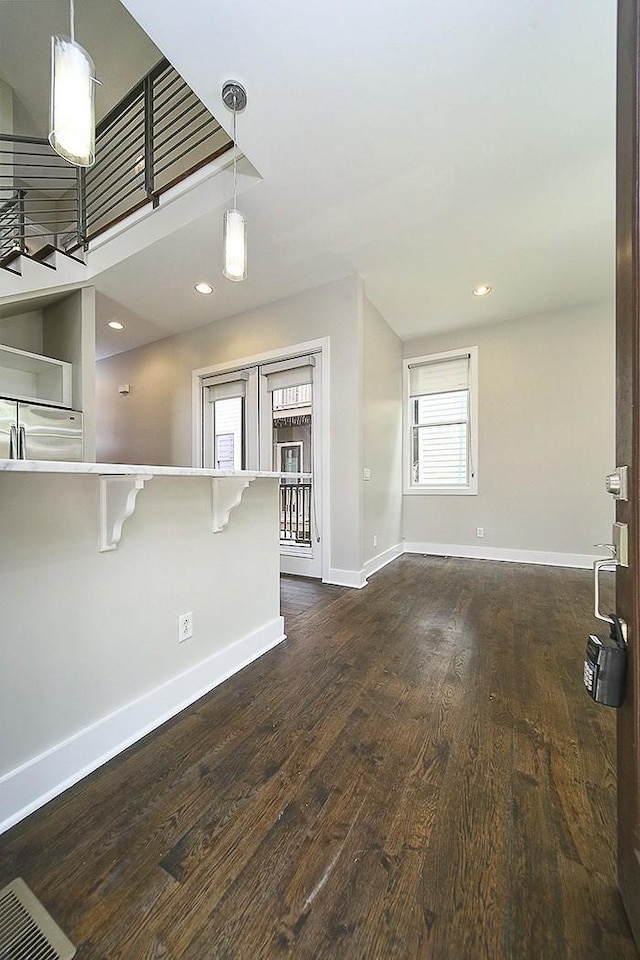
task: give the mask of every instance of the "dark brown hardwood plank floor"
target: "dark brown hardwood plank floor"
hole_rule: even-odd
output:
[[[0,838],[0,885],[78,960],[637,960],[590,574],[282,594],[289,639]]]

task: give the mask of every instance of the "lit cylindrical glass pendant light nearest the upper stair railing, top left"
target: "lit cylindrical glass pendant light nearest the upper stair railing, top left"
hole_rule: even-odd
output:
[[[69,0],[71,39],[51,37],[51,114],[49,143],[77,167],[95,161],[95,70],[75,40],[74,0]]]

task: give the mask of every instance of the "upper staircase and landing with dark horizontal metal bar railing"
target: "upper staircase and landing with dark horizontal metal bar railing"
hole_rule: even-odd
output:
[[[97,125],[89,169],[63,161],[47,140],[0,134],[0,303],[88,283],[92,240],[155,210],[231,147],[166,59]]]

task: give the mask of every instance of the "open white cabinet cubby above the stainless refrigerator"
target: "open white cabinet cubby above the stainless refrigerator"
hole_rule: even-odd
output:
[[[0,396],[71,407],[71,364],[0,345]]]

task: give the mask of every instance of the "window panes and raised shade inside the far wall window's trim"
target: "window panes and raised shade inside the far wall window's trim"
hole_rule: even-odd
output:
[[[469,355],[410,367],[412,484],[465,487],[470,478]]]

